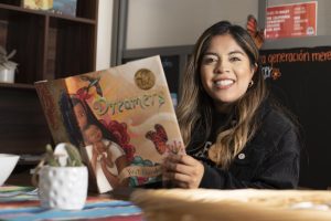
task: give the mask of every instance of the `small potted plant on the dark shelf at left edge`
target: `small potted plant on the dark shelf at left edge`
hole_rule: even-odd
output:
[[[0,45],[0,82],[14,82],[18,63],[10,61],[10,59],[13,57],[15,53],[17,51],[13,50],[10,54],[7,54],[6,49]]]

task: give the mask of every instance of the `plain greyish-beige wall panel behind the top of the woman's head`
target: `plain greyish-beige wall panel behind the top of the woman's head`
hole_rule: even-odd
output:
[[[129,0],[128,50],[194,44],[209,25],[257,17],[258,0]],[[238,7],[239,6],[239,7]]]

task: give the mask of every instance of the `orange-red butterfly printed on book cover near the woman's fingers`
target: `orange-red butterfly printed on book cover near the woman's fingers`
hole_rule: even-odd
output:
[[[146,134],[146,138],[150,139],[154,144],[156,149],[158,150],[158,152],[160,155],[162,155],[167,150],[168,136],[167,136],[166,129],[162,125],[156,124],[154,129],[156,129],[154,131],[149,130]]]

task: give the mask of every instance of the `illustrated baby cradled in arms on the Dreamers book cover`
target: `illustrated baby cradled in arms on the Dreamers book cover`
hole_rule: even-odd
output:
[[[108,181],[113,188],[120,186],[118,175],[127,167],[125,151],[116,143],[104,138],[96,125],[86,125],[83,136],[97,182]]]

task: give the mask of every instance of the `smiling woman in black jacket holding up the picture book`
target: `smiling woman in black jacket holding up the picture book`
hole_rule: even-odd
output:
[[[221,21],[195,44],[178,118],[185,156],[169,155],[164,177],[182,188],[296,188],[297,122],[271,98],[249,33]]]

